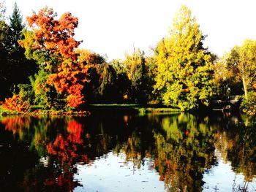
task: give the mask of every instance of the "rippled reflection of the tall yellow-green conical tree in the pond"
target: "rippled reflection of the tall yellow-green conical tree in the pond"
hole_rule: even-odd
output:
[[[154,134],[157,146],[155,168],[170,191],[194,191],[203,185],[203,172],[214,163],[214,138],[208,119],[173,115],[162,119]]]

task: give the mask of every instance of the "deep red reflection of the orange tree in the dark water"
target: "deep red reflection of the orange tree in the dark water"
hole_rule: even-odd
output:
[[[76,169],[72,165],[76,162],[89,163],[87,155],[83,154],[83,150],[79,150],[79,147],[84,145],[81,134],[83,133],[82,124],[76,120],[70,120],[67,123],[67,135],[59,134],[54,142],[50,142],[47,145],[48,154],[56,156],[57,164],[60,166],[61,174],[59,177],[52,177],[46,182],[48,185],[59,185],[60,187],[65,185],[65,189],[72,191],[78,183],[74,182],[73,175]]]

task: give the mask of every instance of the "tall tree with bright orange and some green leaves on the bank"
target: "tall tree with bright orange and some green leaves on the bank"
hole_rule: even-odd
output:
[[[41,9],[38,14],[34,12],[27,18],[31,30],[24,31],[25,39],[19,43],[25,48],[26,57],[37,61],[41,71],[45,72],[44,82],[48,90],[54,86],[55,91],[67,101],[67,106],[78,107],[84,102],[82,90],[87,73],[85,65],[78,61],[78,53],[75,53],[80,45],[74,39],[78,18],[69,12],[59,19],[56,17],[53,9],[48,7]],[[38,92],[35,90],[35,93]],[[49,96],[56,94],[46,95]]]

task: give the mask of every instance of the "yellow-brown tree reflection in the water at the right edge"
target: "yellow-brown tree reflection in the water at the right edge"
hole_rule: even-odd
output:
[[[230,161],[237,174],[244,174],[245,181],[252,181],[256,175],[256,130],[253,124],[237,124],[232,128],[219,130],[215,135],[216,147],[224,161]]]

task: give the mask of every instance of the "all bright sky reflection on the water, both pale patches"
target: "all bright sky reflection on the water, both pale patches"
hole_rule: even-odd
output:
[[[217,155],[217,165],[203,174],[203,191],[238,191],[244,187],[244,175],[233,172],[230,162],[225,163]],[[154,162],[146,158],[138,169],[132,161],[124,162],[124,153],[113,152],[95,160],[92,164],[77,164],[75,180],[82,186],[74,191],[165,191],[165,185],[159,181]],[[247,191],[256,190],[256,180],[248,183]]]

